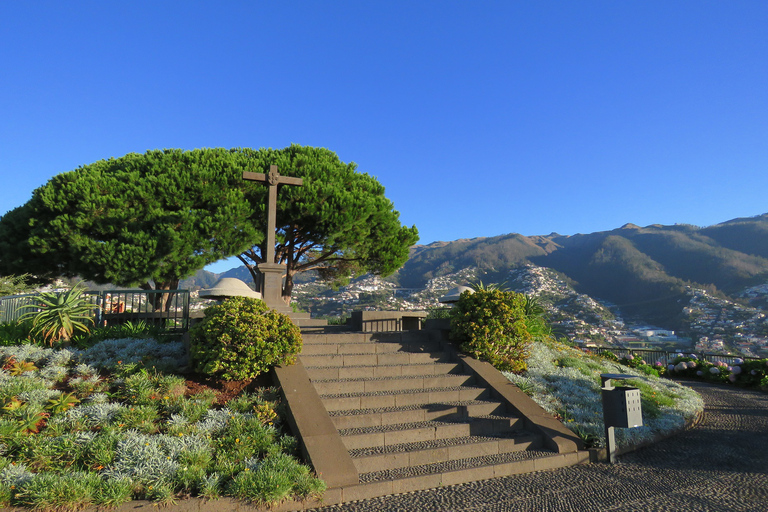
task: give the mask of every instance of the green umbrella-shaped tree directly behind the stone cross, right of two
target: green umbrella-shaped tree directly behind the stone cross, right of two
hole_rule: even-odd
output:
[[[274,164],[281,175],[303,179],[302,186],[281,187],[277,200],[274,263],[286,266],[286,301],[299,272],[315,270],[325,281],[343,284],[367,272],[386,276],[408,259],[410,247],[419,239],[416,227],[401,225],[384,187],[357,172],[356,164],[344,163],[324,148],[295,144],[240,151],[256,172],[267,172]],[[254,222],[266,226],[267,187],[254,182],[244,186],[254,205]],[[254,279],[265,255],[263,241],[239,255]]]

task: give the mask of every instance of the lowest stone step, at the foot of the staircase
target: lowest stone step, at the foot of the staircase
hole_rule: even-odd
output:
[[[344,489],[344,501],[545,471],[588,461],[589,453],[583,451],[558,454],[547,450],[523,450],[373,471],[362,473],[359,485]]]

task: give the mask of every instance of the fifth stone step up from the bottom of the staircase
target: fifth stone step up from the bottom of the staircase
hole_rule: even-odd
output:
[[[432,404],[478,400],[488,397],[488,389],[479,386],[456,388],[432,388],[406,392],[338,393],[320,395],[327,411],[349,409],[378,409],[381,407],[404,407],[408,405]]]

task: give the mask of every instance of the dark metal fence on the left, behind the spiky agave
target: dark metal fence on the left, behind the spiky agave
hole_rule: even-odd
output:
[[[83,295],[96,306],[93,316],[99,327],[143,321],[174,331],[189,329],[189,290],[103,290]],[[34,305],[37,296],[0,297],[0,322],[12,322],[34,311],[24,306]]]

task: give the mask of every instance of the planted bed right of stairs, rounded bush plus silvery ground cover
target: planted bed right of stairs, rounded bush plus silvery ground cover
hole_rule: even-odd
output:
[[[554,340],[536,300],[523,294],[478,287],[465,291],[451,310],[451,338],[461,349],[493,364],[547,412],[560,418],[589,446],[605,444],[601,378],[604,373],[636,376],[619,385],[640,389],[644,425],[621,429],[629,444],[680,430],[703,410],[693,390],[659,377],[643,364],[620,365]],[[627,362],[627,361],[625,361]]]

